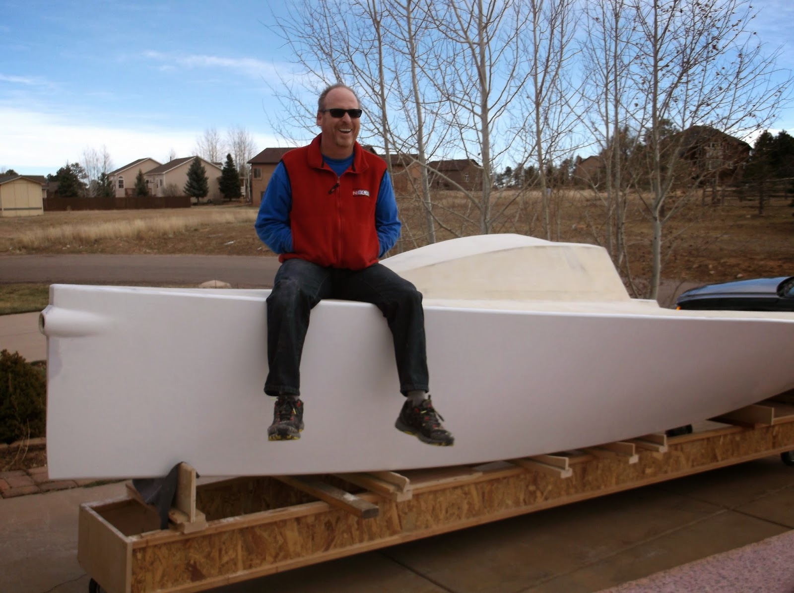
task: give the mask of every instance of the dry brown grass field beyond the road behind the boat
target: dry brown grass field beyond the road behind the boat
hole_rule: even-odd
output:
[[[460,195],[441,192],[435,213],[443,227],[437,240],[479,232],[478,215]],[[794,207],[776,198],[757,214],[757,202],[729,199],[723,206],[693,201],[665,227],[664,279],[720,282],[741,277],[794,275]],[[539,197],[499,196],[504,208],[491,232],[543,237]],[[402,251],[426,244],[422,208],[399,200]],[[553,196],[555,241],[598,243],[603,206],[592,194]],[[195,253],[272,256],[256,237],[251,206],[198,206],[190,210],[96,210],[0,218],[0,255],[22,253]],[[545,238],[545,237],[543,237]],[[635,278],[649,275],[650,225],[639,201],[626,214],[629,261]]]

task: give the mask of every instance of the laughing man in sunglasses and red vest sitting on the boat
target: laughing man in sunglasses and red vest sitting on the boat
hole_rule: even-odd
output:
[[[268,439],[303,430],[300,359],[311,309],[323,298],[372,302],[394,341],[406,402],[395,426],[431,445],[453,445],[428,391],[422,294],[378,263],[397,241],[400,222],[386,164],[356,138],[361,110],[349,87],[331,85],[318,99],[321,133],[287,152],[264,192],[256,233],[279,254],[268,297],[268,378],[276,396]]]

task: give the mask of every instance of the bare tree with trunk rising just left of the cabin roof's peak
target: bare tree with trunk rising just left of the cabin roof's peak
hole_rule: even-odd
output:
[[[427,2],[425,10],[439,37],[420,67],[437,90],[453,130],[448,149],[480,163],[480,191],[458,186],[474,214],[461,216],[480,233],[491,233],[495,213],[504,208],[501,195],[493,194],[495,163],[525,143],[530,78],[522,53],[522,33],[529,22],[526,2],[476,0],[464,10],[447,0]],[[445,65],[443,78],[428,69],[436,63]]]

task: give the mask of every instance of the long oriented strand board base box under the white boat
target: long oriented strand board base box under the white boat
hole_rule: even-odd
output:
[[[569,468],[573,475],[568,479],[511,464],[494,466],[491,471],[441,468],[404,472],[412,484],[409,500],[395,502],[371,493],[358,494],[380,506],[379,516],[370,519],[317,501],[265,510],[277,499],[291,499],[290,488],[273,478],[199,486],[199,504],[222,503],[214,510],[202,509],[212,520],[206,529],[195,533],[172,529],[125,535],[110,520],[129,527],[132,523],[123,516],[124,510],[135,514],[137,503],[91,503],[81,510],[79,557],[94,578],[100,572],[106,579],[108,574],[114,575],[115,580],[107,585],[111,593],[204,591],[794,449],[794,422],[754,430],[729,426],[676,437],[668,446],[666,453],[641,449],[635,464],[619,456],[572,457]],[[335,483],[344,485],[338,479]],[[252,504],[252,496],[260,494],[268,502]],[[295,491],[294,496],[299,500],[305,495]],[[221,507],[249,512],[229,516],[220,513]]]

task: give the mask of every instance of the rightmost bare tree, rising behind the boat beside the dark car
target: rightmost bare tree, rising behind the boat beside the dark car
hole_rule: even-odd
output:
[[[707,172],[692,171],[681,158],[688,130],[705,126],[742,137],[766,127],[788,101],[792,80],[772,83],[780,52],[765,54],[749,28],[755,16],[749,0],[630,0],[629,6],[637,36],[630,101],[639,106],[632,125],[644,140],[649,187],[638,195],[653,229],[649,297],[656,298],[665,223]],[[684,179],[683,196],[670,204]]]

